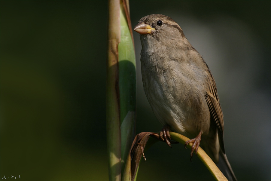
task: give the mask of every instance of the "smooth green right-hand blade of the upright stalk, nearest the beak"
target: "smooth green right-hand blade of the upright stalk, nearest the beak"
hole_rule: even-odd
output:
[[[119,85],[122,173],[135,137],[135,51],[129,29],[128,1],[120,3]],[[125,11],[126,9],[126,11]],[[127,15],[128,14],[128,15]]]

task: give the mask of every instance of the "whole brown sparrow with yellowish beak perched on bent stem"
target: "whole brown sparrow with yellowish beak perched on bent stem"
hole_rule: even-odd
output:
[[[201,54],[181,27],[162,14],[142,17],[134,27],[141,40],[141,71],[146,97],[164,125],[162,140],[170,145],[169,130],[193,138],[229,180],[237,180],[224,148],[224,121],[215,79]]]

